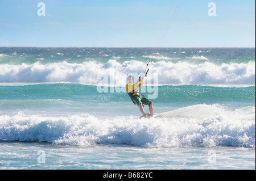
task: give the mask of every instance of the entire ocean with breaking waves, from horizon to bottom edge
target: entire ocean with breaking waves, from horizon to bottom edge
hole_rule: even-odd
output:
[[[0,169],[255,169],[255,48],[0,47]]]

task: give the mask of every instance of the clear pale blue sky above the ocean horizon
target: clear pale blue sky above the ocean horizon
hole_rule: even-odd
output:
[[[39,2],[46,16],[38,16]],[[255,47],[254,0],[183,0],[171,18],[178,2],[1,0],[0,46],[155,47],[171,20],[157,47]],[[210,2],[216,16],[208,15]]]

